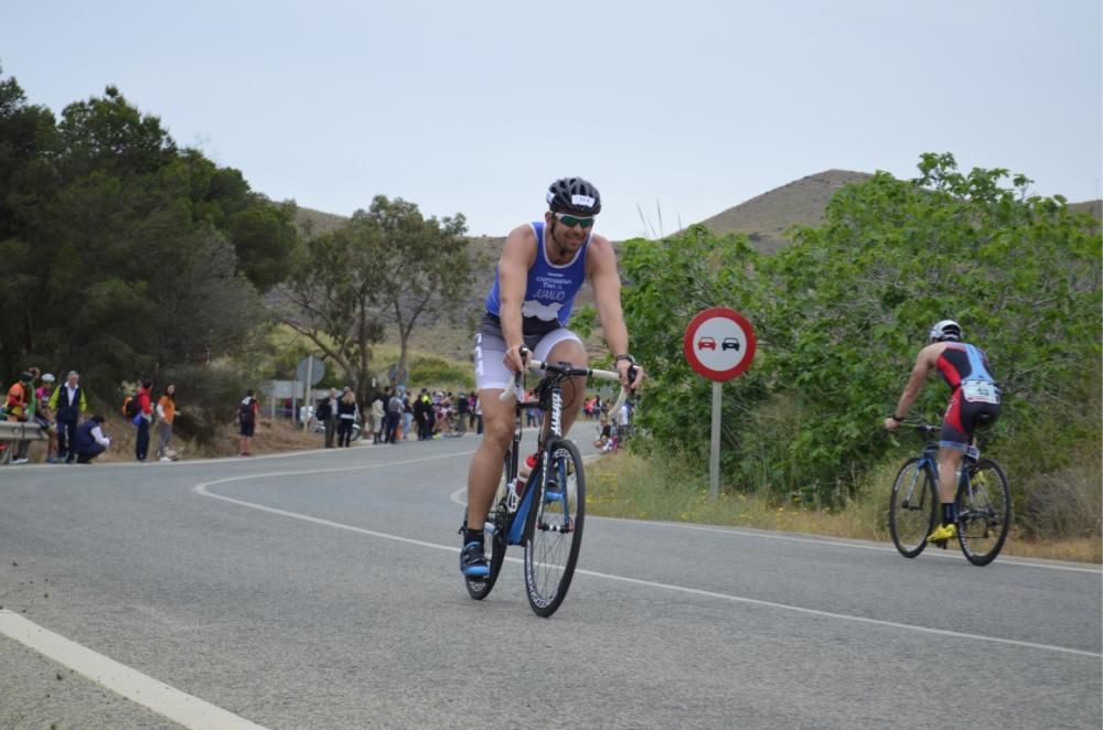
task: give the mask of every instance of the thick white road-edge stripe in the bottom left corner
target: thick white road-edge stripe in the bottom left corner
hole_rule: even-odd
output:
[[[0,633],[185,728],[264,730],[264,726],[170,687],[7,609],[0,609]]]

